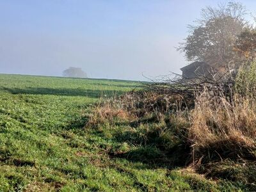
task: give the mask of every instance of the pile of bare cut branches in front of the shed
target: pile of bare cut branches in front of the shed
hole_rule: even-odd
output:
[[[234,80],[230,74],[217,74],[215,78],[198,75],[193,78],[182,77],[172,73],[168,76],[159,76],[151,79],[152,83],[145,83],[143,87],[148,92],[160,95],[178,95],[184,99],[194,100],[196,93],[208,90],[212,94],[227,95],[231,92]]]

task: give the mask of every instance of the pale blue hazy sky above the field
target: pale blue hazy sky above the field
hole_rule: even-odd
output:
[[[0,0],[0,73],[143,80],[188,64],[175,47],[203,0]],[[256,9],[256,1],[240,1]],[[253,10],[252,10],[253,11]]]

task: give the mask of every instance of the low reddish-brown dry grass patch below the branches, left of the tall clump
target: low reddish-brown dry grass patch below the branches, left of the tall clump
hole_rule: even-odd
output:
[[[115,99],[104,100],[93,108],[88,125],[113,123],[115,120],[136,121],[154,113],[161,119],[170,110],[181,108],[182,97],[155,92],[129,92]]]

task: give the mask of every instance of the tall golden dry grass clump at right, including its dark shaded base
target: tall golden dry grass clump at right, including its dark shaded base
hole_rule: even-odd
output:
[[[231,98],[212,96],[205,91],[196,97],[195,109],[190,115],[189,140],[199,156],[207,156],[206,151],[215,152],[220,159],[253,156],[251,152],[256,147],[255,98],[238,94]]]

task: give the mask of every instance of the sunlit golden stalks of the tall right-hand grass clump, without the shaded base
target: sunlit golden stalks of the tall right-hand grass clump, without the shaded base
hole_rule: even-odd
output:
[[[252,97],[211,97],[207,92],[196,97],[191,111],[189,136],[198,146],[221,140],[234,140],[254,146],[256,136],[256,100]]]

